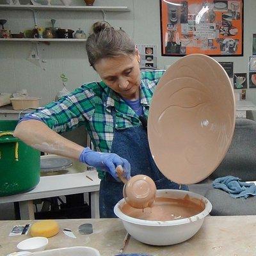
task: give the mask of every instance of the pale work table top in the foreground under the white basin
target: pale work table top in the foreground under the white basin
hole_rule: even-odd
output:
[[[0,255],[16,252],[17,244],[29,235],[9,236],[12,227],[34,221],[0,221]],[[101,256],[118,255],[126,231],[118,219],[58,220],[61,229],[70,228],[76,239],[63,232],[49,238],[46,250],[70,246],[91,246],[99,250]],[[92,223],[93,234],[81,235],[79,225]],[[133,239],[125,247],[124,253],[147,253],[154,256],[186,255],[256,255],[256,216],[208,216],[198,233],[184,243],[173,246],[149,246]]]

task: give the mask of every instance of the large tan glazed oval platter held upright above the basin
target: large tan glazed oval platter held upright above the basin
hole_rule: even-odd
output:
[[[163,175],[179,184],[204,180],[225,157],[234,126],[234,90],[217,61],[190,54],[166,70],[148,116],[150,150]]]

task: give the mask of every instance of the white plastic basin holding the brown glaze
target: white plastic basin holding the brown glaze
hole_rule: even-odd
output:
[[[152,245],[171,245],[182,243],[198,232],[204,222],[204,217],[211,212],[212,205],[207,198],[196,193],[175,189],[157,190],[157,197],[184,198],[189,195],[191,198],[202,199],[205,204],[204,211],[182,220],[170,221],[149,221],[140,220],[127,216],[121,211],[125,204],[124,198],[120,200],[114,208],[114,212],[120,218],[127,232],[138,241]]]

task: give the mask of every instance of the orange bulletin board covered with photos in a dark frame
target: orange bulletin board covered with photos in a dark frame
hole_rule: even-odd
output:
[[[243,0],[160,0],[162,56],[243,56]]]

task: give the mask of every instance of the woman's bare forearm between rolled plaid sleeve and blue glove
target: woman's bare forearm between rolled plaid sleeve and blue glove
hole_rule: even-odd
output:
[[[67,140],[38,120],[20,122],[13,136],[42,152],[79,159],[84,147]]]

